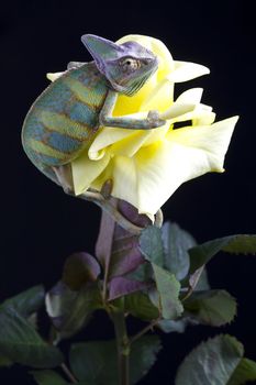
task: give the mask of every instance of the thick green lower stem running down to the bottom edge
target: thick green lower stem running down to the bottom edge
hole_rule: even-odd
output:
[[[112,309],[111,318],[114,323],[118,346],[119,385],[129,385],[130,343],[127,338],[124,312],[119,309]]]

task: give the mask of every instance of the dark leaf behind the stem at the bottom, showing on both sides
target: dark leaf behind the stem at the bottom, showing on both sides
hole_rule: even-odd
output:
[[[160,348],[157,336],[142,337],[132,344],[131,385],[136,384],[149,371]],[[118,353],[115,341],[93,341],[71,345],[70,366],[79,381],[85,381],[90,385],[116,385]]]

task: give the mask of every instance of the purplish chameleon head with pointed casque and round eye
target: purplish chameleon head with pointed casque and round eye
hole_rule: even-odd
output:
[[[133,96],[158,67],[157,57],[136,42],[119,45],[91,34],[81,36],[81,41],[118,92]]]

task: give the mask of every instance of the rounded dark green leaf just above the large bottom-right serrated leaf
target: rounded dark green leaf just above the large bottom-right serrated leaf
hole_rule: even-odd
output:
[[[236,315],[236,301],[225,290],[196,292],[183,306],[193,320],[214,327],[231,322]]]

